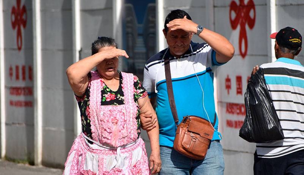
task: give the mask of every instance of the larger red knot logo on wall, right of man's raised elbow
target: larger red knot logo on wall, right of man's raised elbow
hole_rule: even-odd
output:
[[[250,29],[253,29],[255,23],[255,6],[253,0],[249,0],[245,5],[244,0],[239,0],[240,5],[237,5],[235,1],[230,3],[229,9],[229,19],[233,30],[237,29],[240,25],[240,35],[239,35],[239,50],[242,58],[247,55],[248,41],[246,33],[246,24]],[[250,12],[253,10],[253,18],[250,16]],[[234,19],[232,19],[232,12],[235,13]],[[244,51],[242,50],[242,44],[244,41]]]

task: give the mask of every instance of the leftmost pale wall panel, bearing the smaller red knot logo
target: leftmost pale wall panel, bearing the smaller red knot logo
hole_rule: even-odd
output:
[[[22,44],[19,40],[17,46],[17,30],[12,27],[12,21],[18,20],[17,16],[11,19],[13,7],[18,9],[16,1],[3,1],[3,32],[4,32],[4,59],[5,59],[5,103],[6,110],[6,156],[12,159],[26,159],[33,161],[33,133],[34,118],[33,106],[25,107],[21,103],[27,101],[33,104],[32,95],[12,94],[11,89],[33,89],[33,79],[28,77],[28,68],[33,68],[33,35],[32,35],[32,2],[21,1],[20,8],[26,7],[26,26],[21,26]],[[15,13],[16,14],[16,13]],[[22,76],[22,66],[25,66],[25,77]],[[18,68],[19,67],[19,68]],[[12,74],[10,75],[10,68]],[[17,72],[16,72],[17,70]],[[18,72],[19,71],[19,72]],[[17,78],[19,77],[19,79]]]

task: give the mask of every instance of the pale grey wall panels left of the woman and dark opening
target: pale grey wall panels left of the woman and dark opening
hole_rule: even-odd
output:
[[[12,88],[30,88],[28,67],[33,68],[32,1],[21,0],[26,7],[27,23],[21,28],[22,47],[17,48],[17,28],[12,29],[11,11],[16,1],[3,0],[4,59],[5,59],[5,131],[4,155],[9,159],[34,162],[34,100],[31,95],[11,95]],[[80,58],[91,54],[91,44],[98,36],[114,37],[113,1],[80,1],[81,48]],[[63,167],[74,136],[74,94],[65,70],[73,64],[72,0],[40,1],[41,66],[42,66],[42,158],[46,166]],[[12,18],[14,19],[14,18]],[[20,44],[19,44],[20,45]],[[26,79],[22,79],[22,66]],[[16,78],[19,66],[19,80]],[[12,77],[9,68],[12,67]],[[33,70],[32,70],[33,71]],[[32,72],[33,75],[33,72]],[[33,75],[35,76],[35,75]],[[2,77],[2,78],[4,78]],[[33,78],[33,77],[32,77]],[[30,101],[30,107],[16,107],[10,101]],[[80,120],[80,116],[77,116]],[[39,156],[38,156],[39,157]]]

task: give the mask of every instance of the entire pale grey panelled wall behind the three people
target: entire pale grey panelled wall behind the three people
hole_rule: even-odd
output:
[[[161,0],[160,0],[161,1]],[[156,2],[160,2],[156,1]],[[239,1],[234,0],[237,5]],[[21,7],[26,6],[27,23],[21,28],[22,48],[17,47],[17,29],[12,28],[11,10],[16,0],[3,0],[3,28],[4,33],[4,62],[5,62],[5,156],[11,159],[34,160],[34,108],[16,107],[10,101],[30,101],[35,104],[33,95],[11,94],[12,88],[33,89],[33,80],[29,79],[29,66],[33,68],[33,10],[32,1],[21,0]],[[117,1],[120,2],[120,1]],[[173,9],[183,9],[190,14],[195,23],[214,30],[230,40],[235,46],[236,53],[231,61],[221,66],[216,72],[215,86],[216,101],[219,115],[219,129],[223,134],[222,145],[225,157],[225,174],[253,174],[253,153],[255,144],[247,143],[238,136],[240,122],[244,121],[244,93],[247,77],[250,76],[254,65],[261,65],[271,61],[273,57],[269,34],[286,26],[293,26],[304,34],[304,2],[300,0],[275,1],[275,16],[270,17],[270,0],[253,0],[255,9],[254,26],[245,25],[247,36],[247,54],[242,56],[239,49],[240,24],[234,30],[230,24],[230,4],[226,0],[166,0],[157,14],[159,26],[164,26],[164,19]],[[245,5],[248,0],[245,1]],[[91,54],[91,43],[98,36],[119,37],[121,24],[114,23],[112,0],[81,0],[80,1],[80,59]],[[120,5],[120,3],[116,3]],[[119,9],[119,8],[118,8]],[[65,70],[73,63],[73,15],[72,0],[41,1],[41,53],[42,53],[42,164],[62,167],[67,153],[71,148],[75,133],[74,114],[75,99],[68,85]],[[117,13],[118,14],[118,13]],[[231,14],[234,18],[236,15]],[[250,12],[251,18],[254,11]],[[272,19],[275,26],[270,27]],[[119,26],[120,25],[120,26]],[[115,28],[115,31],[113,28]],[[274,29],[275,28],[275,29]],[[161,31],[159,31],[161,32]],[[243,30],[244,32],[244,30]],[[1,33],[1,32],[0,32]],[[161,32],[162,33],[162,32]],[[161,35],[160,42],[165,43]],[[118,39],[119,42],[121,42]],[[194,42],[201,42],[193,37]],[[122,42],[121,42],[122,43]],[[161,44],[160,44],[161,45]],[[120,44],[122,46],[122,44]],[[244,45],[241,47],[244,51]],[[304,52],[296,57],[304,64]],[[16,79],[16,65],[19,66],[19,80]],[[22,80],[22,66],[25,65],[26,78]],[[12,76],[9,68],[12,66]],[[237,76],[241,82],[237,84]],[[229,78],[228,78],[229,77]],[[229,93],[226,80],[230,79]],[[242,87],[237,93],[237,87]],[[228,86],[227,86],[228,87]],[[234,109],[234,110],[233,110]],[[76,116],[80,120],[80,116]],[[2,116],[3,118],[3,116]],[[1,121],[3,122],[3,121]],[[3,133],[1,133],[3,137]],[[150,142],[145,131],[141,137],[146,142],[147,152],[150,154]]]

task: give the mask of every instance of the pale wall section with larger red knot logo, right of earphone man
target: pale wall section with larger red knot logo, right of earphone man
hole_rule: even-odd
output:
[[[239,2],[237,2],[239,3]],[[217,32],[228,38],[235,46],[235,56],[228,64],[220,68],[217,72],[218,77],[218,100],[219,100],[219,116],[221,117],[221,128],[223,134],[223,148],[225,155],[226,169],[225,174],[253,174],[253,153],[255,151],[254,143],[247,143],[238,137],[239,127],[231,128],[227,126],[226,121],[241,121],[244,120],[244,115],[229,114],[226,112],[227,103],[244,104],[244,93],[247,87],[247,76],[250,76],[252,67],[254,65],[261,65],[271,61],[274,55],[269,54],[268,49],[273,49],[269,45],[269,35],[267,30],[269,21],[269,9],[267,6],[269,1],[254,0],[255,4],[255,25],[252,29],[246,25],[248,38],[248,52],[245,58],[240,56],[238,48],[238,38],[240,26],[236,30],[231,30],[229,21],[229,4],[226,1],[216,1],[215,3],[215,29]],[[276,1],[276,29],[278,31],[286,26],[292,26],[299,30],[303,35],[303,20],[304,16],[301,13],[304,3],[300,1]],[[219,10],[219,14],[217,13]],[[222,14],[221,14],[222,13]],[[226,15],[225,15],[226,14]],[[228,14],[228,15],[227,15]],[[226,18],[223,18],[226,16]],[[252,13],[251,13],[252,16]],[[253,16],[252,16],[253,17]],[[268,19],[268,20],[267,20]],[[271,20],[270,20],[271,21]],[[226,27],[225,27],[226,26]],[[224,30],[221,30],[224,29]],[[226,34],[227,33],[227,34]],[[230,34],[229,34],[230,33]],[[275,42],[271,40],[271,42]],[[303,53],[301,53],[296,60],[303,64]],[[225,78],[229,75],[231,78],[230,94],[227,94],[225,89]],[[236,95],[236,76],[242,77],[242,95]],[[240,166],[242,165],[242,166]]]

